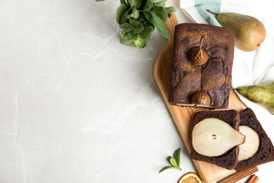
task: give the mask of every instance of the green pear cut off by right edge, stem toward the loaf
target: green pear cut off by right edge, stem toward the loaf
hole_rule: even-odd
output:
[[[274,114],[274,81],[250,87],[239,87],[237,92]]]

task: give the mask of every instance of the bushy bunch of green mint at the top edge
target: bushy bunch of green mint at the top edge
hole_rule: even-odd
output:
[[[105,1],[105,0],[96,0]],[[156,29],[167,39],[169,31],[164,23],[169,19],[168,13],[176,12],[173,6],[165,8],[166,0],[120,0],[116,11],[116,21],[122,29],[122,44],[132,44],[145,48],[146,40]]]

